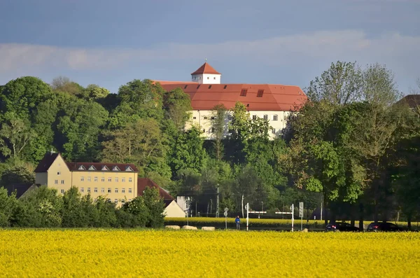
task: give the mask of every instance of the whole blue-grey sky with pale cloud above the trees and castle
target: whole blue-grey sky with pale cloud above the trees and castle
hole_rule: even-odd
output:
[[[66,76],[118,92],[133,79],[305,88],[337,60],[420,78],[420,0],[0,0],[0,84]]]

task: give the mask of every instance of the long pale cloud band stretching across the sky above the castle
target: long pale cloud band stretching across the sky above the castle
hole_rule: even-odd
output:
[[[0,44],[0,72],[26,69],[101,71],[126,64],[185,61],[218,57],[248,60],[260,67],[314,67],[336,60],[361,64],[379,62],[400,76],[420,76],[420,36],[398,33],[369,37],[358,30],[313,32],[262,40],[226,41],[215,44],[164,43],[153,49],[61,48],[29,44]],[[410,78],[411,78],[410,76]],[[415,78],[414,78],[415,79]],[[414,80],[413,79],[413,80]]]

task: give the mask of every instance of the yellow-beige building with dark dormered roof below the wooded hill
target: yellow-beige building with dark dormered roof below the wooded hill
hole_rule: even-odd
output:
[[[139,170],[133,164],[66,162],[59,153],[47,153],[35,169],[35,183],[64,194],[76,186],[92,199],[104,196],[117,206],[137,197]]]

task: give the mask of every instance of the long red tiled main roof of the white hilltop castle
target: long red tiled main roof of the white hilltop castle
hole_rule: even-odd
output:
[[[167,91],[181,88],[190,95],[194,110],[211,110],[217,104],[232,109],[242,102],[248,111],[296,111],[307,100],[302,89],[293,85],[271,84],[198,84],[193,82],[160,82]],[[247,90],[241,96],[241,90]],[[262,97],[257,97],[263,90]]]

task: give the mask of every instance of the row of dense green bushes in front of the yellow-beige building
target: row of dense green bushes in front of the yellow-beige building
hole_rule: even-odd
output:
[[[142,196],[118,209],[104,197],[95,202],[90,195],[82,197],[74,187],[60,195],[53,188],[40,186],[19,199],[0,188],[0,227],[160,228],[164,209],[155,188],[146,188]]]

